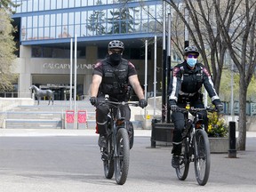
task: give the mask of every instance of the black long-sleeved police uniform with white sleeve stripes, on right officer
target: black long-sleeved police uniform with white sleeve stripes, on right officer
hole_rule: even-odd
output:
[[[195,68],[188,68],[187,61],[180,63],[172,69],[172,78],[169,85],[169,102],[177,104],[180,108],[185,108],[187,102],[191,107],[204,108],[202,86],[208,92],[212,103],[220,102],[220,98],[215,91],[212,83],[212,77],[204,65],[196,63]],[[201,116],[204,119],[205,130],[208,126],[208,118],[206,112],[202,111]],[[180,148],[175,148],[175,145],[180,145],[182,140],[181,132],[184,128],[184,114],[178,111],[172,112],[172,123],[174,124],[173,131],[173,148],[172,153],[180,154]]]

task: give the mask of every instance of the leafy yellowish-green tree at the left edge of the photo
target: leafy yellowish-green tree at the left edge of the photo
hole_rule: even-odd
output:
[[[12,81],[15,75],[12,74],[13,60],[16,58],[16,50],[13,41],[12,19],[8,12],[0,8],[0,91],[7,91],[12,88]]]

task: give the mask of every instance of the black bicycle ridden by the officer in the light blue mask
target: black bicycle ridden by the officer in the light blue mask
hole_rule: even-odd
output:
[[[180,166],[176,168],[179,180],[186,180],[188,176],[189,163],[194,162],[196,180],[199,185],[204,186],[210,174],[211,152],[207,132],[204,131],[203,119],[199,117],[200,111],[215,112],[216,108],[177,108],[185,114],[185,127],[182,133],[182,149],[180,154]],[[188,113],[192,115],[188,118]]]

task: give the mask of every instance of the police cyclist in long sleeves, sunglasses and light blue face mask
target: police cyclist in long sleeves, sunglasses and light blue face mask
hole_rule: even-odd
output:
[[[212,84],[212,77],[204,65],[197,62],[199,52],[196,46],[188,46],[184,49],[184,61],[172,69],[171,82],[168,89],[169,104],[172,110],[172,123],[174,124],[172,136],[172,167],[178,168],[181,153],[182,129],[184,128],[184,114],[176,111],[177,106],[185,108],[189,102],[191,107],[204,108],[202,86],[208,92],[212,104],[223,110],[223,105]],[[204,128],[207,132],[208,118],[206,111],[200,116],[204,120]]]

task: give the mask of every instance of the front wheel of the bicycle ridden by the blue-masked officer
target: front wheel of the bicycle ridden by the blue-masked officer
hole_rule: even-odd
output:
[[[210,144],[207,133],[204,130],[197,130],[194,139],[196,180],[199,185],[204,186],[210,174]]]

